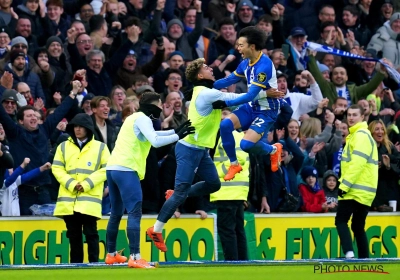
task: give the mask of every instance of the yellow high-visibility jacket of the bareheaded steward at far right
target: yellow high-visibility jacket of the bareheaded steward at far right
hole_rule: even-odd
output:
[[[378,149],[366,122],[349,128],[340,163],[339,189],[346,195],[339,200],[353,199],[371,206],[378,185]]]

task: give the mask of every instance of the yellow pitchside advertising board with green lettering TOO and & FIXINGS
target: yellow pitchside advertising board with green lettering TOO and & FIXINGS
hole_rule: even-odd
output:
[[[171,219],[163,232],[168,247],[166,253],[160,252],[145,234],[155,219],[156,216],[143,216],[142,219],[141,254],[145,259],[160,262],[222,259],[215,215],[211,214],[205,220],[194,215]],[[246,214],[245,219],[250,259],[342,256],[334,214]],[[106,255],[107,222],[107,217],[98,221],[100,261]],[[398,257],[400,240],[397,238],[397,225],[400,225],[399,214],[370,213],[366,229],[371,257]],[[125,248],[127,255],[129,246],[125,229],[126,217],[121,221],[117,248]],[[54,264],[68,261],[69,241],[62,220],[46,217],[0,218],[0,264]]]

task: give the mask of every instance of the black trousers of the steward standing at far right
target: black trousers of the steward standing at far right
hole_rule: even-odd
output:
[[[368,240],[364,229],[368,209],[369,206],[361,204],[355,200],[339,200],[335,225],[339,234],[343,253],[346,254],[349,251],[354,251],[350,230],[347,225],[351,215],[353,215],[353,218],[351,219],[351,230],[353,231],[354,238],[357,242],[358,257],[369,257]]]

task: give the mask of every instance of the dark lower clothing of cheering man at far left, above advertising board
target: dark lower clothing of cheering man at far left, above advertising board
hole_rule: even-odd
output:
[[[47,186],[20,185],[18,187],[19,210],[21,216],[32,215],[31,207],[33,204],[51,203],[50,193]]]

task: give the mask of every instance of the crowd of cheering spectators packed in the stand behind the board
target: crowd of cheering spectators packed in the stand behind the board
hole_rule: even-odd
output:
[[[25,158],[25,172],[51,163],[77,113],[91,116],[95,139],[112,152],[147,91],[163,102],[154,128],[177,128],[191,99],[186,66],[204,57],[216,79],[226,77],[241,61],[240,30],[253,25],[268,35],[263,52],[293,115],[268,135],[283,145],[278,171],[269,156],[249,155],[248,210],[282,212],[291,194],[292,212],[336,211],[346,109],[359,104],[379,152],[372,210],[392,211],[389,201],[400,199],[400,90],[377,59],[400,71],[398,0],[0,0],[1,181]],[[304,63],[306,41],[376,61],[308,51]],[[246,80],[224,90],[246,92]],[[143,213],[156,214],[174,186],[174,145],[152,147],[146,164]],[[51,170],[25,180],[20,214],[55,203],[58,189]],[[189,199],[175,215],[205,217],[212,208],[207,197]],[[109,209],[105,183],[103,214]]]

